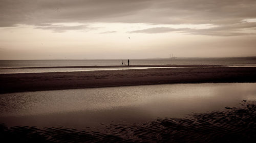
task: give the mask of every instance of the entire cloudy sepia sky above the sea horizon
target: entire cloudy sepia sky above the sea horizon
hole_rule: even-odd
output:
[[[255,0],[0,0],[0,60],[256,56]]]

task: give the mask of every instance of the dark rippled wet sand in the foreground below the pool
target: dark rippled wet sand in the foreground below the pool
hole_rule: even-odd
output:
[[[165,118],[134,124],[103,125],[101,130],[0,124],[3,142],[255,142],[255,102],[224,111],[193,113],[187,118]]]

